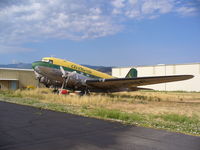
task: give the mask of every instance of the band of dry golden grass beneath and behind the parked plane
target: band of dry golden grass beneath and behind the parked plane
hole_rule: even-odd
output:
[[[21,97],[37,98],[43,102],[103,107],[124,112],[142,114],[175,113],[200,118],[200,93],[187,92],[121,92],[114,94],[92,94],[91,96],[57,95],[49,89],[15,91]]]

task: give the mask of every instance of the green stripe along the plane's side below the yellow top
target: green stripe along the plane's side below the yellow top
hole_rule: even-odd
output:
[[[49,67],[49,68],[60,70],[60,66],[59,65],[50,64],[48,62],[43,62],[43,61],[33,62],[32,63],[32,68],[34,69],[36,66],[44,66],[44,67]],[[88,74],[88,73],[81,72],[79,70],[71,69],[71,68],[68,68],[68,67],[65,67],[65,66],[62,66],[62,67],[63,67],[63,69],[65,71],[69,71],[69,72],[76,71],[77,73],[82,74],[82,75],[84,75],[86,77],[89,77],[89,78],[95,78],[95,79],[99,79],[100,78],[100,77],[97,77],[97,76],[94,76],[94,75],[91,75],[91,74]]]

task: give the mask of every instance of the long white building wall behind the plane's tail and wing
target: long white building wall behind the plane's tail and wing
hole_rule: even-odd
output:
[[[132,67],[112,68],[112,75],[115,77],[125,77],[131,68]],[[133,66],[133,68],[137,69],[138,77],[187,74],[195,76],[190,80],[155,84],[143,87],[167,91],[200,91],[200,63],[156,66]]]

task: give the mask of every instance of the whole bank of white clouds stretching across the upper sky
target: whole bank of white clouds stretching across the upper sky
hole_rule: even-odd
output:
[[[0,48],[47,38],[99,38],[120,32],[127,20],[196,11],[183,0],[1,0]]]

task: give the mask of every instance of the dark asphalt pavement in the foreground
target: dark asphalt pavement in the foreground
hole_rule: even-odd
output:
[[[200,137],[0,102],[0,150],[200,150]]]

